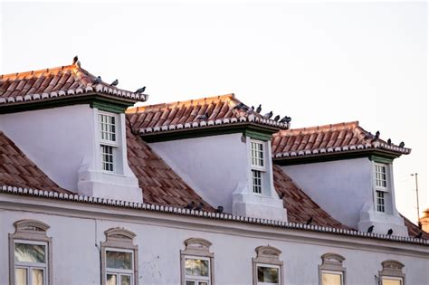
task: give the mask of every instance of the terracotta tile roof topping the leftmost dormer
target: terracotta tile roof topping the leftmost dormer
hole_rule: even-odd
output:
[[[101,93],[123,100],[147,100],[145,94],[120,90],[101,81],[93,84],[95,76],[77,65],[67,65],[0,75],[0,106],[2,104],[30,103],[33,100],[56,100],[86,93]]]

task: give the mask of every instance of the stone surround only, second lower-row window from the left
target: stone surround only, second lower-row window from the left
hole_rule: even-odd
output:
[[[133,252],[133,284],[138,285],[138,246],[133,240],[136,233],[123,228],[110,228],[104,232],[106,242],[101,242],[101,284],[106,285],[106,249],[130,250]]]

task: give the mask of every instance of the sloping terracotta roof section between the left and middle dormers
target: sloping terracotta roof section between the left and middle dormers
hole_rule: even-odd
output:
[[[205,211],[214,211],[138,135],[133,134],[129,126],[127,148],[129,167],[143,189],[145,203],[184,207],[194,201],[195,206],[203,203]]]

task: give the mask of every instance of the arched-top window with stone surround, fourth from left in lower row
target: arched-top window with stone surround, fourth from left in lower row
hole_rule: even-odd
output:
[[[272,246],[259,246],[255,249],[253,261],[253,285],[283,284],[283,261],[281,251]]]

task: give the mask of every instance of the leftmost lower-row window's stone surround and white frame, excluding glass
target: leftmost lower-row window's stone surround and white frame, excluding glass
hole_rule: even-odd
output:
[[[49,225],[36,220],[20,220],[14,223],[15,232],[9,233],[9,283],[15,284],[15,270],[26,269],[27,284],[32,284],[32,270],[43,270],[43,285],[52,284],[52,238],[46,235]],[[16,261],[15,243],[44,245],[45,261]]]

